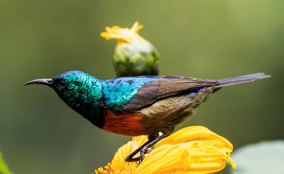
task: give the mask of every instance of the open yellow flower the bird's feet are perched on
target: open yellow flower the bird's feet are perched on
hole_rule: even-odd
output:
[[[143,138],[139,136],[137,139]],[[146,141],[147,139],[143,142]],[[183,128],[161,140],[152,152],[145,156],[145,159],[136,169],[137,162],[123,163],[123,159],[130,152],[129,149],[127,150],[131,146],[130,143],[137,144],[135,140],[132,140],[132,142],[127,143],[128,145],[123,145],[114,156],[112,164],[109,164],[108,168],[115,168],[116,171],[105,170],[105,173],[108,171],[111,174],[119,172],[136,174],[213,173],[225,168],[225,161],[228,161],[233,168],[236,168],[236,163],[230,158],[230,153],[233,150],[232,144],[224,137],[213,133],[203,126]],[[118,157],[120,155],[121,158]],[[118,164],[120,165],[119,169],[125,168],[125,170],[117,170]],[[100,173],[103,172],[100,171]]]

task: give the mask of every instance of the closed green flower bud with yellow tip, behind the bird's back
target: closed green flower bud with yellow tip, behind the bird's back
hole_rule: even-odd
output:
[[[142,28],[138,22],[129,28],[106,27],[101,33],[105,39],[117,39],[113,54],[113,66],[117,77],[159,75],[159,52],[138,34]]]

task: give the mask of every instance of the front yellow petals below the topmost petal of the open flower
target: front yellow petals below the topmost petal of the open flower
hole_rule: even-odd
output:
[[[228,160],[226,153],[213,146],[201,146],[202,149],[199,149],[193,144],[159,146],[145,157],[135,173],[212,173],[225,167],[225,160]]]

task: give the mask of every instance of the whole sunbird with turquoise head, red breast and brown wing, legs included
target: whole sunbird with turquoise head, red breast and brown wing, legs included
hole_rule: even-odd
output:
[[[51,79],[36,79],[25,85],[43,84],[55,90],[73,110],[95,126],[119,135],[148,135],[148,141],[125,161],[139,161],[155,143],[169,136],[185,117],[224,86],[271,77],[255,73],[221,80],[182,76],[136,76],[97,79],[82,71],[68,71]],[[159,136],[159,133],[162,135]],[[140,157],[133,156],[140,151]]]

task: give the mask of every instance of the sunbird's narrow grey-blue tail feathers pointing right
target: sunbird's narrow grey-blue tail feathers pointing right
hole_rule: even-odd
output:
[[[255,74],[248,74],[248,75],[243,75],[243,76],[233,77],[233,78],[228,78],[228,79],[221,79],[221,80],[218,80],[220,84],[216,85],[216,87],[221,88],[223,86],[245,83],[245,82],[260,80],[260,79],[264,79],[268,77],[271,77],[271,76],[265,75],[264,73],[255,73]]]

